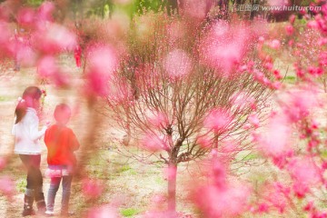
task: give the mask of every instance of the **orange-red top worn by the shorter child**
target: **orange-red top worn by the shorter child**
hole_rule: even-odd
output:
[[[48,149],[47,163],[49,165],[75,165],[76,151],[80,144],[70,128],[53,124],[45,132],[45,145]]]

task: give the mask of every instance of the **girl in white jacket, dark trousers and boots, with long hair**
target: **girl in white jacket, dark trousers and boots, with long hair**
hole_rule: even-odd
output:
[[[23,216],[34,214],[35,200],[38,211],[45,213],[45,195],[43,193],[43,176],[40,171],[41,145],[39,139],[45,134],[46,126],[39,131],[39,119],[36,111],[40,107],[42,91],[35,86],[25,89],[23,97],[15,108],[15,154],[27,168],[27,185],[24,197]]]

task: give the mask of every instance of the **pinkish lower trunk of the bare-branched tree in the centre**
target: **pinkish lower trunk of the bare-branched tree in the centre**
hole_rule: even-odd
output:
[[[168,213],[176,213],[176,175],[177,165],[169,163],[168,165]]]

